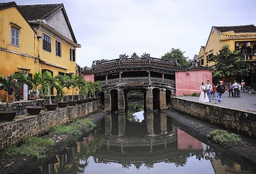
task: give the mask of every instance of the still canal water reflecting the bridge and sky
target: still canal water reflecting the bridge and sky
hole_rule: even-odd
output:
[[[164,113],[111,113],[30,173],[255,172],[255,166],[237,163],[176,123]]]

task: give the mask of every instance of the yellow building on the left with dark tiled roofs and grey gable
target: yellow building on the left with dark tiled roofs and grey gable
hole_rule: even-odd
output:
[[[0,3],[0,74],[77,73],[77,43],[64,5]],[[22,99],[28,99],[23,86]],[[0,93],[0,99],[1,97]]]

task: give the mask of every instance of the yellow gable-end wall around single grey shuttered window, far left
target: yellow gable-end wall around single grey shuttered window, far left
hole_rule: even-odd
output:
[[[36,59],[38,38],[35,31],[16,7],[0,10],[0,16],[0,74],[7,76],[14,73],[18,71],[18,66],[30,68],[32,73],[39,70],[39,61]],[[11,44],[11,23],[21,27],[19,46]]]

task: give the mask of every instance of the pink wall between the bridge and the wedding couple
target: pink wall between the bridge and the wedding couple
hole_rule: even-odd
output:
[[[190,70],[175,72],[176,96],[192,95],[192,93],[200,93],[200,85],[202,82],[206,84],[206,80],[210,80],[212,84],[212,71],[210,70]]]

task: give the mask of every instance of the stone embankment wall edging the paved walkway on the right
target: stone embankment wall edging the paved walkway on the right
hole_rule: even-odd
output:
[[[181,113],[256,139],[256,113],[172,97],[172,107]]]

